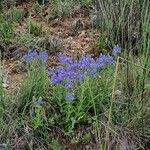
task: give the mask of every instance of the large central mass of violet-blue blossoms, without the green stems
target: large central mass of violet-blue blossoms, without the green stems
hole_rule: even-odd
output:
[[[73,60],[71,57],[60,54],[59,61],[61,66],[50,69],[49,75],[53,84],[63,84],[70,91],[66,96],[68,102],[75,99],[75,94],[72,91],[76,81],[82,82],[87,77],[97,77],[101,69],[107,65],[115,64],[115,60],[109,55],[101,55],[96,60],[90,55],[79,60]]]

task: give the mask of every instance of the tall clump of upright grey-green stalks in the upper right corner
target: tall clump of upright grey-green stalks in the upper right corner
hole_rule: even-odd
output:
[[[121,45],[126,51],[140,52],[143,25],[149,16],[149,1],[120,0],[97,3],[101,17],[101,31],[107,33],[108,44]],[[103,13],[101,13],[103,12]]]

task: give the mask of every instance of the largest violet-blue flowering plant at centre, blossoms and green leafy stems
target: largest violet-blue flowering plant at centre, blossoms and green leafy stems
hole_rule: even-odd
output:
[[[76,124],[89,119],[93,101],[99,113],[104,103],[108,103],[115,60],[110,55],[97,59],[86,55],[76,60],[60,54],[59,62],[48,72],[53,87],[51,100],[63,114],[62,125],[71,131]]]

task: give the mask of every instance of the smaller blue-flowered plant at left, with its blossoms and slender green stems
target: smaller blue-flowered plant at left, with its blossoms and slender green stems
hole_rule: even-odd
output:
[[[33,51],[30,55],[25,55],[23,60],[29,63],[28,76],[20,88],[19,99],[19,112],[26,112],[32,103],[33,96],[45,98],[46,88],[48,88],[48,78],[45,68],[45,61],[48,56],[45,52],[38,53]],[[46,95],[45,95],[46,94]]]

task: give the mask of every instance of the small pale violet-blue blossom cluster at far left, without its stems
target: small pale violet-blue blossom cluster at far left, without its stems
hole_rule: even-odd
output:
[[[48,60],[48,53],[47,51],[37,52],[36,50],[34,50],[24,55],[22,59],[25,62],[31,62],[33,59],[40,59],[46,63]]]

